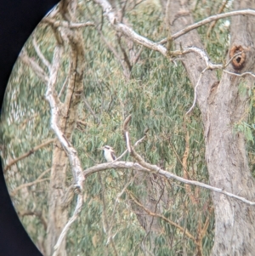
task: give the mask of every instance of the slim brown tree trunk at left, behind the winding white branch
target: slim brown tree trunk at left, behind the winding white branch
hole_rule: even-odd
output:
[[[64,19],[74,21],[76,1],[62,1],[59,7]],[[71,5],[71,6],[69,6]],[[68,9],[71,11],[68,12]],[[68,14],[73,14],[69,17]],[[65,133],[65,138],[71,141],[72,131],[75,128],[77,120],[77,107],[81,102],[83,89],[84,73],[84,48],[82,44],[81,31],[65,29],[65,37],[69,39],[71,48],[70,54],[70,77],[68,87],[66,88],[65,101],[59,105],[59,128]],[[49,208],[48,208],[48,233],[47,233],[47,255],[54,253],[56,244],[61,231],[67,223],[68,208],[65,207],[65,172],[68,165],[68,158],[62,146],[58,142],[54,145],[53,166],[51,172],[51,181],[49,187]],[[75,177],[75,174],[74,174]],[[65,240],[61,243],[58,256],[65,256]]]

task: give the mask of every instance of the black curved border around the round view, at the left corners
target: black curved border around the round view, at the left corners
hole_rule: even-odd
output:
[[[59,0],[0,0],[0,106],[21,48],[42,17]],[[42,256],[14,211],[0,164],[0,255]]]

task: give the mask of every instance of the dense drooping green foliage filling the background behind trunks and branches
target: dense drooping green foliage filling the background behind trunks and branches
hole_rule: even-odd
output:
[[[207,15],[205,10],[211,9],[212,13],[216,13],[216,8],[221,2],[212,4],[212,1],[207,1],[203,6],[201,1],[196,3],[195,19],[201,20]],[[116,2],[116,4],[121,3]],[[159,3],[146,1],[136,7],[133,7],[133,4],[128,2],[125,16],[132,24],[133,30],[154,41],[166,37],[164,16]],[[101,11],[93,2],[79,2],[77,20],[99,22],[98,17],[101,17]],[[112,31],[104,16],[102,19],[104,19],[102,33],[106,42],[111,43],[111,46],[121,53],[115,32]],[[224,24],[225,20],[218,21],[212,30],[210,40],[205,37],[208,26],[202,26],[198,30],[207,45],[207,52],[215,62],[224,60],[224,53],[228,48],[228,27]],[[82,33],[86,60],[84,94],[95,115],[94,117],[88,107],[81,102],[77,128],[73,131],[71,143],[77,149],[82,168],[86,169],[104,162],[102,152],[99,151],[102,145],[113,146],[118,156],[126,149],[126,142],[122,136],[122,123],[128,114],[132,114],[129,126],[132,143],[144,136],[145,129],[149,129],[147,138],[137,148],[145,161],[184,176],[182,158],[187,147],[185,136],[188,133],[190,154],[187,172],[190,179],[207,183],[200,112],[195,109],[190,117],[184,117],[184,113],[192,105],[194,91],[183,66],[173,65],[161,54],[144,48],[138,62],[132,67],[131,78],[127,79],[123,75],[122,66],[105,45],[99,31],[86,27],[82,29]],[[42,54],[51,61],[55,46],[53,32],[46,26],[39,26],[35,35]],[[125,40],[122,37],[122,45],[127,48]],[[132,50],[137,53],[139,46],[134,44]],[[26,43],[26,51],[43,67],[31,39]],[[68,53],[66,48],[58,77],[58,92],[68,75]],[[43,70],[47,72],[45,67]],[[54,137],[49,127],[50,112],[48,103],[44,100],[45,92],[46,85],[28,66],[21,64],[18,60],[9,79],[0,126],[1,142],[6,147],[3,157],[5,164],[9,162],[10,157],[16,158],[32,147]],[[60,100],[64,98],[65,94]],[[86,125],[79,123],[79,120]],[[249,145],[253,147],[254,127],[248,123],[242,122],[236,125],[235,130],[244,133],[247,141],[252,142]],[[128,155],[123,159],[133,161]],[[5,176],[10,191],[21,184],[37,179],[44,170],[51,167],[51,161],[51,146],[44,147],[22,159]],[[187,255],[194,255],[195,243],[163,219],[159,220],[160,232],[146,234],[139,224],[137,212],[128,193],[124,192],[116,202],[117,195],[134,175],[133,170],[107,170],[88,176],[84,184],[82,213],[67,234],[68,255],[115,255],[108,239],[107,225],[112,225],[111,235],[119,255],[144,255],[143,247],[153,251],[155,255],[183,255],[184,250]],[[144,182],[140,183],[135,178],[127,187],[127,190],[141,202],[148,196],[146,177],[144,175]],[[50,174],[46,174],[43,178],[50,178]],[[196,236],[198,225],[200,223],[203,225],[209,215],[210,193],[190,187],[192,195],[195,195],[196,203],[194,203],[183,184],[174,180],[151,177],[150,180],[155,185],[155,191],[151,194],[155,196],[156,201],[159,201],[158,208],[161,215]],[[71,182],[72,175],[68,170],[66,185],[71,185]],[[167,195],[167,198],[163,200],[158,196],[159,194]],[[13,200],[15,208],[20,212],[22,223],[32,240],[38,244],[39,238],[46,236],[42,219],[22,215],[21,212],[36,208],[47,218],[48,181],[27,187]],[[76,202],[73,200],[69,208],[70,216],[75,205]],[[209,255],[212,244],[213,214],[210,215],[207,234],[202,242],[204,255]]]

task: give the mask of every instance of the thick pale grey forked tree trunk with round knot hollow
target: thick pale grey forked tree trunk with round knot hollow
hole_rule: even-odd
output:
[[[168,4],[168,26],[171,32],[179,31],[193,23],[187,5],[188,1],[172,1]],[[254,1],[236,1],[235,9],[255,8]],[[253,71],[254,65],[254,18],[235,16],[231,24],[231,45],[229,49],[243,48],[244,58],[235,58],[239,67],[228,66],[228,71],[242,73]],[[203,48],[196,31],[179,37],[176,47],[194,45]],[[240,57],[240,56],[239,56]],[[241,64],[241,60],[244,63]],[[228,58],[229,59],[229,56]],[[232,61],[233,62],[233,61]],[[183,61],[193,85],[206,67],[195,54],[188,54]],[[238,68],[238,70],[237,70]],[[245,120],[247,97],[239,93],[240,77],[224,73],[218,82],[214,71],[206,71],[197,88],[197,102],[205,128],[206,159],[210,184],[249,200],[255,198],[254,180],[250,173],[243,134],[234,134],[235,123]],[[251,78],[245,77],[251,85]],[[254,255],[255,211],[243,202],[224,195],[212,194],[215,211],[215,241],[212,255]]]

